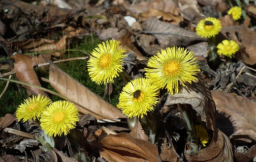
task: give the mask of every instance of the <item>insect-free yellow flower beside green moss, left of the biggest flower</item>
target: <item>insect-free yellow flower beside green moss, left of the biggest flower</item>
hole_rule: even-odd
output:
[[[119,76],[118,73],[123,72],[123,59],[126,55],[125,49],[119,47],[120,42],[110,40],[98,44],[98,47],[91,53],[91,59],[88,60],[88,71],[92,81],[97,84],[112,83],[113,78]]]

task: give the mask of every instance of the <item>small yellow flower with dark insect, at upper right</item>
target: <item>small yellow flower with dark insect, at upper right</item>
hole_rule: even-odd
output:
[[[221,21],[216,18],[205,18],[201,20],[195,31],[201,37],[211,38],[217,35],[222,29]]]

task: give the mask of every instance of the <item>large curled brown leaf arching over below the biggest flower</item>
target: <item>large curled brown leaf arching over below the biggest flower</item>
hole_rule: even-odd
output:
[[[188,147],[185,147],[187,159],[192,162],[233,162],[231,143],[215,126],[217,110],[206,82],[198,75],[197,83],[185,83],[185,85],[185,87],[182,85],[179,87],[179,93],[169,95],[165,105],[190,104],[199,115],[199,119],[206,123],[206,128],[214,131],[211,143],[198,153],[190,155],[186,150]]]

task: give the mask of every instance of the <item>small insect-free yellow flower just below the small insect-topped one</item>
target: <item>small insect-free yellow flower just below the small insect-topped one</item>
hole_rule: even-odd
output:
[[[217,53],[223,54],[231,58],[239,50],[239,45],[233,40],[224,40],[217,46]]]

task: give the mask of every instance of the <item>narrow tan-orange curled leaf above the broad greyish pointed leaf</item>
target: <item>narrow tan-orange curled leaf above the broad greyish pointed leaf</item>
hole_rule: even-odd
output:
[[[161,21],[163,22],[168,22],[174,25],[179,25],[179,23],[183,21],[183,18],[181,16],[174,16],[169,12],[163,12],[155,8],[150,8],[148,11],[142,12],[139,14],[140,19],[141,18],[146,19],[153,16],[156,16],[158,19],[161,19]]]

